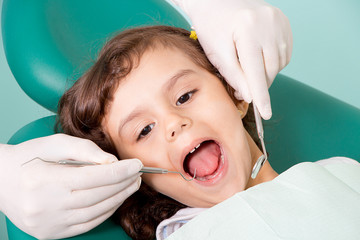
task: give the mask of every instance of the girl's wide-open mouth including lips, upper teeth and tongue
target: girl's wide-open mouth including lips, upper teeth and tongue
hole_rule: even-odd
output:
[[[224,155],[218,143],[207,140],[192,149],[185,157],[184,170],[198,181],[216,178],[224,165]]]

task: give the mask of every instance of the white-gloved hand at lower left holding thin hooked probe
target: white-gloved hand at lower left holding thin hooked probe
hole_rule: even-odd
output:
[[[83,167],[34,160],[102,163]],[[96,227],[139,189],[142,163],[117,161],[89,140],[56,134],[0,145],[0,210],[39,239],[75,236]]]

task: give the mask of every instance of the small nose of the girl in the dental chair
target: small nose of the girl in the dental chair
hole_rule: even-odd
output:
[[[189,128],[192,124],[192,121],[188,117],[178,114],[170,114],[166,122],[166,139],[169,142],[175,141],[181,132]]]

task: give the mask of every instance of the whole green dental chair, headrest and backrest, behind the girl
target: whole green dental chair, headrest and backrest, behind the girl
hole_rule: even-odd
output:
[[[95,59],[104,41],[127,27],[189,23],[162,0],[4,0],[2,36],[7,61],[21,88],[56,112],[63,92]],[[265,121],[269,161],[281,173],[304,161],[333,156],[360,160],[360,110],[284,75],[270,88],[273,118]],[[55,115],[21,128],[17,144],[54,134]],[[7,219],[9,240],[33,237]],[[71,239],[130,239],[110,220]]]

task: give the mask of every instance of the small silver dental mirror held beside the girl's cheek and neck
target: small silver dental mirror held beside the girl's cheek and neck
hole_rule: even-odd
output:
[[[262,166],[264,165],[264,163],[267,160],[267,152],[266,152],[265,143],[264,143],[264,128],[262,125],[261,116],[260,116],[259,110],[255,106],[255,104],[253,104],[253,107],[254,107],[256,130],[257,130],[257,133],[258,133],[258,136],[259,136],[259,139],[261,142],[261,146],[262,146],[262,151],[263,151],[263,155],[261,155],[258,158],[258,160],[256,161],[254,168],[251,172],[251,178],[255,179],[256,176],[258,175],[260,169],[262,168]]]

